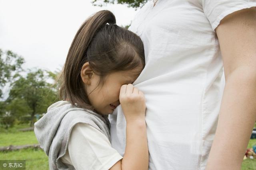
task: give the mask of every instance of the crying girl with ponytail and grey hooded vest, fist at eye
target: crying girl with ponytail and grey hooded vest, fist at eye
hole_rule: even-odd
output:
[[[140,37],[117,26],[110,11],[82,24],[60,76],[62,101],[35,123],[51,170],[148,169],[145,98],[132,85],[144,66]],[[111,147],[107,118],[119,104],[126,118],[123,157]]]

